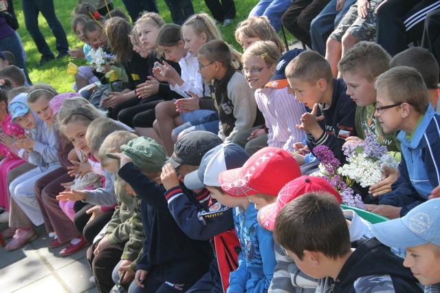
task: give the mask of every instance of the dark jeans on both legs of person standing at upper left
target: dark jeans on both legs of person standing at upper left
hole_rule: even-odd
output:
[[[60,54],[67,54],[69,43],[67,43],[66,33],[60,21],[56,18],[53,0],[23,0],[23,14],[25,16],[26,29],[34,39],[36,48],[42,58],[52,58],[54,53],[47,45],[45,37],[39,29],[39,13],[43,14],[47,24],[50,26],[56,39],[56,50]]]

